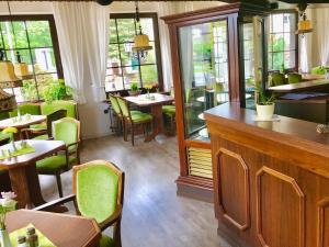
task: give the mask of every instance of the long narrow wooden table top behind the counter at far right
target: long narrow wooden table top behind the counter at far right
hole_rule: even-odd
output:
[[[329,86],[329,80],[310,80],[292,85],[281,85],[269,88],[269,90],[274,92],[295,92],[295,91],[307,91],[322,86]]]

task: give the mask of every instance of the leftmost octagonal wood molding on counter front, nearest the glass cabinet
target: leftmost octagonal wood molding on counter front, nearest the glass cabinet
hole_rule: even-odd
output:
[[[250,188],[250,179],[249,179],[249,168],[247,166],[247,164],[245,162],[243,158],[239,155],[239,154],[236,154],[234,151],[230,151],[226,148],[219,148],[219,150],[217,151],[216,154],[216,162],[217,162],[217,167],[218,167],[218,178],[220,178],[220,166],[223,166],[223,164],[220,164],[219,159],[220,159],[220,156],[223,155],[227,155],[229,157],[232,157],[235,159],[238,160],[238,164],[241,166],[242,170],[243,170],[243,189],[245,189],[245,201],[246,201],[246,204],[243,205],[245,206],[245,222],[242,223],[239,223],[238,221],[236,221],[232,216],[230,216],[226,210],[225,210],[225,206],[223,204],[223,198],[222,198],[222,186],[219,184],[218,187],[218,198],[219,198],[219,206],[223,211],[223,216],[228,221],[230,222],[232,225],[235,225],[236,227],[238,227],[240,231],[246,231],[250,227],[250,191],[249,191],[249,188]],[[219,183],[220,183],[220,179],[219,180]]]

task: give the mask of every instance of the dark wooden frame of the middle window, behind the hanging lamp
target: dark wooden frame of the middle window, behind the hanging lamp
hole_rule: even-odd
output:
[[[114,19],[135,19],[136,13],[111,13],[110,14],[110,20]],[[139,13],[139,18],[144,19],[144,18],[149,18],[152,19],[152,24],[154,24],[154,35],[155,35],[155,54],[156,54],[156,64],[151,64],[151,65],[156,65],[157,66],[157,72],[158,72],[158,83],[159,83],[159,89],[161,91],[163,91],[163,75],[162,75],[162,60],[161,60],[161,47],[160,47],[160,37],[159,37],[159,24],[158,24],[158,13],[156,12],[143,12]],[[136,24],[136,21],[135,21]],[[110,26],[109,26],[110,29]],[[116,35],[117,35],[117,41],[118,41],[118,32],[117,32],[117,23],[116,23]],[[114,43],[115,45],[120,45],[121,43]],[[109,41],[109,47],[110,47],[111,43]],[[118,47],[118,53],[121,54],[120,47]],[[118,59],[121,60],[121,66],[118,66],[118,68],[122,70],[121,75],[123,76],[123,68],[125,68],[126,66],[123,66],[122,64],[122,58],[121,55],[118,54]],[[144,65],[141,65],[144,66]],[[140,74],[140,64],[138,65],[138,70],[139,70],[139,80],[140,80],[140,86],[141,88],[144,88],[143,85],[143,80],[141,80],[141,74]],[[113,67],[106,67],[106,69],[109,68],[113,68]],[[106,75],[107,76],[107,75]],[[115,92],[122,92],[122,91],[127,91],[129,89],[124,88],[121,90],[113,90],[113,91],[106,91],[106,93],[115,93]]]

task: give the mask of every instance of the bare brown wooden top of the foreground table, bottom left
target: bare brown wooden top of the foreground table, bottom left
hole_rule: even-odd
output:
[[[5,222],[10,233],[33,224],[57,247],[95,247],[101,237],[94,220],[68,214],[19,210]]]

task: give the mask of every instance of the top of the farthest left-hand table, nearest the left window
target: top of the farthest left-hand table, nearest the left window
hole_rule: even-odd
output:
[[[18,120],[18,117],[10,117],[7,120],[0,121],[0,130],[7,128],[7,127],[16,127],[16,128],[24,128],[29,127],[32,124],[42,123],[47,120],[47,116],[45,115],[30,115],[30,119],[26,119],[26,115],[21,116],[21,121],[14,121]]]

